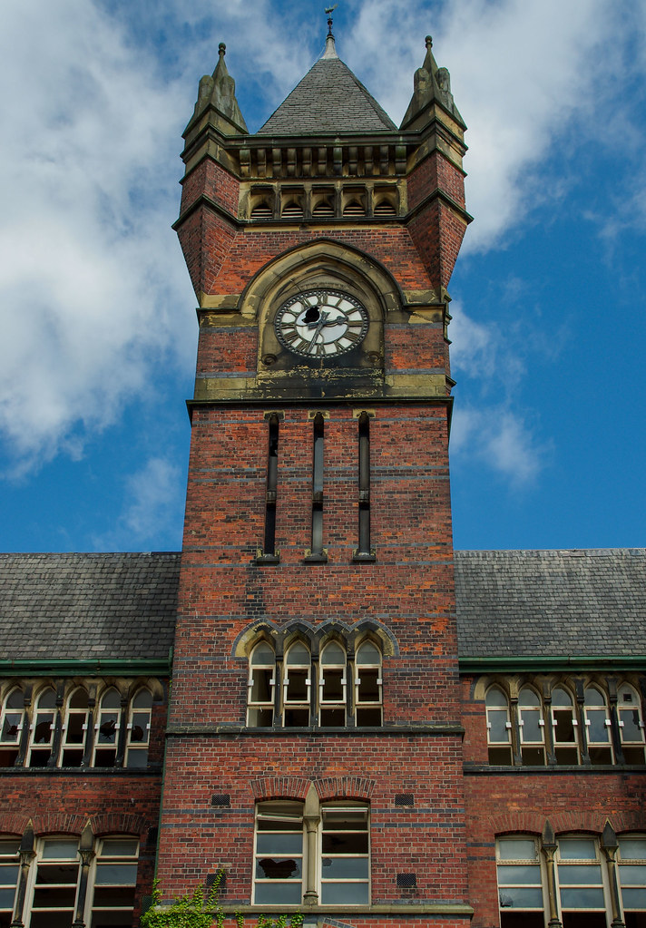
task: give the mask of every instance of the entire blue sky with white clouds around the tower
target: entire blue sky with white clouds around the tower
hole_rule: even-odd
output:
[[[171,224],[217,46],[254,132],[315,0],[6,0],[0,550],[181,547],[197,323]],[[433,35],[469,126],[450,283],[456,548],[642,547],[644,0],[340,0],[395,122]]]

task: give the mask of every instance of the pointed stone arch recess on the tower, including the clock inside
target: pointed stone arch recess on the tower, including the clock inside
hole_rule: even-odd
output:
[[[286,251],[250,281],[241,310],[258,324],[258,382],[289,373],[333,396],[355,387],[380,391],[384,322],[402,296],[385,268],[329,238]]]

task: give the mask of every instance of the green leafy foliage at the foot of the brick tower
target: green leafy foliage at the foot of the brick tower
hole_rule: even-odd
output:
[[[213,922],[215,928],[225,928],[225,912],[218,902],[222,876],[223,870],[218,870],[208,893],[200,884],[192,894],[175,899],[172,906],[164,909],[158,909],[161,906],[161,889],[156,880],[152,888],[152,905],[141,916],[141,928],[213,928]],[[236,928],[244,928],[241,912],[236,912],[233,919]],[[303,912],[278,915],[276,919],[259,915],[256,928],[302,928],[303,919]]]

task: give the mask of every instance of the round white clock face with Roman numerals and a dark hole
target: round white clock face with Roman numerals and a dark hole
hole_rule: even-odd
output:
[[[278,342],[304,357],[335,357],[366,337],[368,311],[342,290],[304,290],[283,303],[274,322]]]

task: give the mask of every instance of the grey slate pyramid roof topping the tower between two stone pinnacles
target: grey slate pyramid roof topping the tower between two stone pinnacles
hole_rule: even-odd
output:
[[[258,135],[355,135],[393,129],[393,120],[342,62],[329,35],[322,58],[307,71]]]

